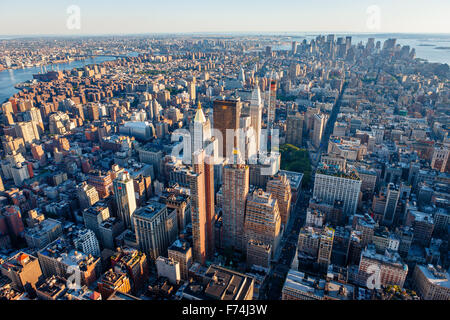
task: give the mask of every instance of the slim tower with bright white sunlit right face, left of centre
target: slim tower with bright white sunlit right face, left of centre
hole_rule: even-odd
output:
[[[127,171],[120,172],[114,179],[113,186],[118,216],[127,228],[132,228],[132,215],[136,210],[133,179]]]

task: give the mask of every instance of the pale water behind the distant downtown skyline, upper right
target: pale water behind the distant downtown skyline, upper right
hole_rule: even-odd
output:
[[[304,39],[310,41],[315,39],[318,34],[303,34],[298,38],[294,35],[290,42],[286,42],[283,45],[275,46],[274,50],[291,50],[291,41],[301,42]],[[447,63],[450,65],[450,49],[439,50],[437,47],[450,47],[450,35],[413,35],[413,34],[348,34],[352,36],[352,44],[359,42],[367,43],[368,38],[375,38],[375,43],[381,41],[381,47],[383,47],[384,41],[389,38],[396,38],[397,44],[402,46],[408,45],[411,48],[416,49],[416,57],[420,59],[428,60],[429,62]],[[335,39],[338,37],[345,37],[345,35],[336,34]],[[423,46],[423,45],[426,46]]]

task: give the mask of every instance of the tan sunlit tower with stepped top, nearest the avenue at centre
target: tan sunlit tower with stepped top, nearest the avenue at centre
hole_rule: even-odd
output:
[[[245,249],[249,240],[256,240],[270,244],[275,255],[281,232],[277,200],[270,193],[256,190],[247,197],[245,211]]]

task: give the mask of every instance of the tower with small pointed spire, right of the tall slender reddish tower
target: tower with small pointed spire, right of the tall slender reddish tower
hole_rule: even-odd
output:
[[[237,156],[236,150],[235,156]],[[226,165],[223,172],[223,245],[243,251],[249,167],[240,163],[239,160],[235,160],[235,163]]]

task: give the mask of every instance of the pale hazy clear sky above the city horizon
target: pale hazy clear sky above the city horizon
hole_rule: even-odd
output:
[[[80,29],[67,27],[71,5],[80,8]],[[373,5],[379,19],[367,12]],[[1,0],[0,12],[1,35],[450,33],[449,0]]]

